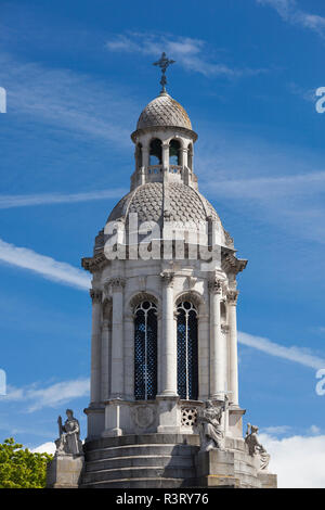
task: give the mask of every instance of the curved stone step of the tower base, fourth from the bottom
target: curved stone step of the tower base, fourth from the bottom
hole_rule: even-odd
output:
[[[112,457],[131,457],[141,455],[172,455],[172,456],[187,456],[191,457],[197,452],[196,446],[190,445],[130,445],[130,446],[114,446],[108,448],[99,448],[86,451],[86,460],[101,460],[109,459]]]

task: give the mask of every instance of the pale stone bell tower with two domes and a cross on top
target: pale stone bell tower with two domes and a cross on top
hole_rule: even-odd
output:
[[[274,485],[259,477],[242,431],[236,279],[247,260],[236,257],[233,239],[198,191],[197,135],[166,91],[170,63],[162,54],[162,90],[131,135],[130,192],[95,238],[93,256],[82,259],[92,273],[82,486],[209,485],[218,473],[205,472],[205,455],[219,456],[218,485]],[[207,401],[221,409],[224,448],[198,454]]]

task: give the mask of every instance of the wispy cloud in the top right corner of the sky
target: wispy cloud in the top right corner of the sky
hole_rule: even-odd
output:
[[[302,11],[296,0],[257,0],[257,3],[272,7],[288,23],[309,28],[321,37],[325,36],[325,17]]]

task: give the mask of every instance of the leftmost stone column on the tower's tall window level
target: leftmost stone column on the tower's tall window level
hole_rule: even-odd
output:
[[[91,404],[101,401],[101,319],[102,291],[90,290],[92,299],[92,331],[91,331]]]

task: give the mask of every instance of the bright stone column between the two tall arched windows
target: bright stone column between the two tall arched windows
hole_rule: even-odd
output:
[[[161,272],[162,280],[162,346],[161,346],[161,395],[178,394],[177,335],[173,317],[173,273]]]

